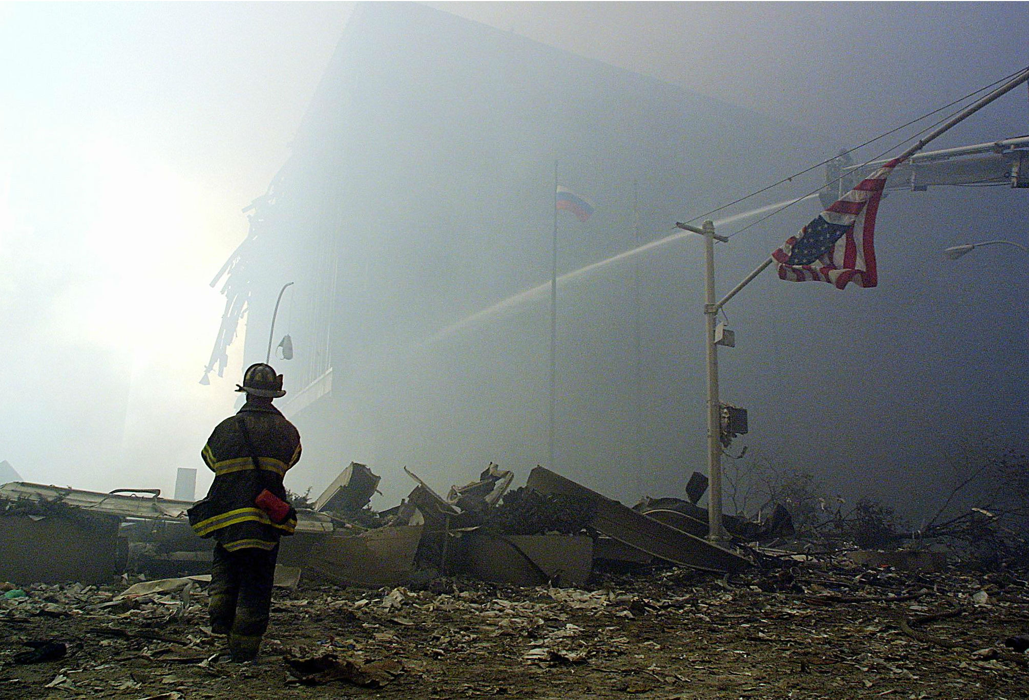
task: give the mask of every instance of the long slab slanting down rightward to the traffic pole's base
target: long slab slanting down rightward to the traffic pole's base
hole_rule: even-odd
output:
[[[647,518],[542,466],[529,474],[528,486],[542,493],[563,493],[588,499],[596,509],[591,523],[595,529],[672,563],[719,572],[738,571],[751,565],[736,552]]]

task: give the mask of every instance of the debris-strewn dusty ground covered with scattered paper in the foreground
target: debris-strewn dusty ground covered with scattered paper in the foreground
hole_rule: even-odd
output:
[[[182,612],[177,593],[111,602],[123,588],[36,587],[0,601],[0,698],[1029,697],[1026,655],[1001,643],[1029,628],[1029,583],[1009,573],[900,574],[837,560],[728,580],[665,569],[581,591],[301,583],[276,591],[251,664],[216,656],[221,640],[201,629],[202,590]],[[888,596],[912,597],[868,600]],[[937,612],[953,617],[918,620]],[[15,665],[27,639],[64,641],[69,654]],[[378,689],[303,686],[283,660],[293,647],[398,663]]]

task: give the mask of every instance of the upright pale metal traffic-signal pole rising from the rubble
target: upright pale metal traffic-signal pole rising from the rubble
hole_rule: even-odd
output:
[[[721,405],[718,402],[718,346],[714,344],[714,221],[704,222],[704,321],[708,365],[708,539],[724,541],[729,537],[721,526]]]

